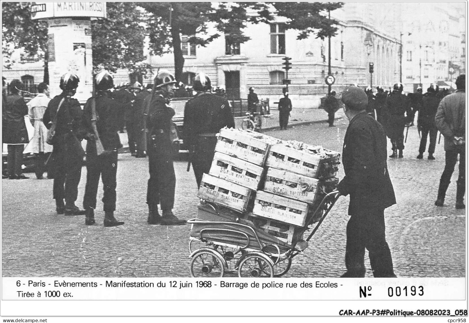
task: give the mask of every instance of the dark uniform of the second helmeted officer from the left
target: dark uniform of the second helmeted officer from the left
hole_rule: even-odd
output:
[[[96,140],[94,138],[88,139],[86,144],[86,187],[83,207],[85,210],[88,208],[96,209],[96,195],[98,194],[98,183],[101,176],[104,190],[104,211],[112,212],[116,209],[117,149],[122,147],[117,132],[123,119],[123,106],[110,98],[107,92],[98,93],[98,95],[89,98],[83,108],[83,124],[88,134],[94,134],[91,126],[93,118],[91,105],[92,100],[94,100],[97,117],[96,128],[106,152],[98,156]]]

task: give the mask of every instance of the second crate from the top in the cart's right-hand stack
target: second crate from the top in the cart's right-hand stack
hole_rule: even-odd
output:
[[[268,168],[264,191],[306,203],[314,203],[319,187],[320,181],[315,178]]]

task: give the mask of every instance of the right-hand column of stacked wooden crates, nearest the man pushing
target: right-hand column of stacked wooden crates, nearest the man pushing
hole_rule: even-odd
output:
[[[252,217],[268,219],[260,226],[288,244],[301,240],[307,226],[321,218],[319,204],[325,194],[337,185],[339,157],[335,151],[300,142],[272,144]]]

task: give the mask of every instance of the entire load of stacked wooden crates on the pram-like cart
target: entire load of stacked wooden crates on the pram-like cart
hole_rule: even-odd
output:
[[[239,212],[256,227],[294,244],[337,179],[339,154],[320,146],[223,128],[198,197]],[[320,218],[322,211],[316,212]]]

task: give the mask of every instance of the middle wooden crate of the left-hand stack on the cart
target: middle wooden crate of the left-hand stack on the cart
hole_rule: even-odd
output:
[[[209,174],[257,190],[263,172],[264,168],[261,166],[215,152]]]

